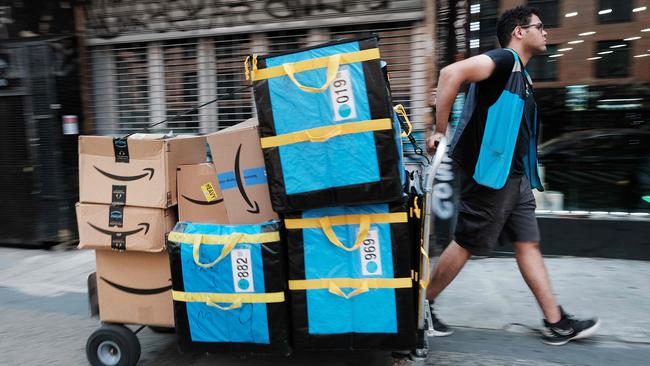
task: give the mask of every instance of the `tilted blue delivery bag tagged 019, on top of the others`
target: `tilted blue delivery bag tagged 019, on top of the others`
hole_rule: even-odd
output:
[[[369,37],[253,56],[276,212],[401,198],[399,127],[377,47]]]

